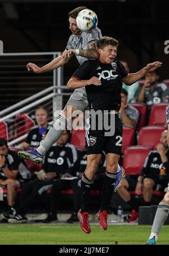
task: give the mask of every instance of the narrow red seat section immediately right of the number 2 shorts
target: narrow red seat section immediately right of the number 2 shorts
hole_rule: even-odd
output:
[[[134,145],[135,130],[134,128],[123,126],[123,144],[122,144],[122,154],[128,146]]]

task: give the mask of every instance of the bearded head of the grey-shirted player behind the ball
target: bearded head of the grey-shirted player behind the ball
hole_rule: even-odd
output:
[[[73,34],[81,33],[80,29],[77,27],[76,18],[80,11],[87,9],[86,6],[79,6],[69,12],[69,28]]]

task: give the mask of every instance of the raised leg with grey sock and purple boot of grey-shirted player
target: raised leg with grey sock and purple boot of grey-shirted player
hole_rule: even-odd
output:
[[[61,111],[53,127],[48,131],[43,143],[36,150],[19,151],[19,157],[24,160],[32,160],[35,163],[42,162],[43,155],[46,154],[47,150],[50,149],[50,147],[60,138],[61,134],[63,134],[64,130],[69,127],[69,124],[72,123],[72,119],[74,118],[72,116],[73,112],[75,110],[84,111],[84,109],[86,109],[88,105],[86,90],[85,88],[79,89],[74,90],[64,110]]]

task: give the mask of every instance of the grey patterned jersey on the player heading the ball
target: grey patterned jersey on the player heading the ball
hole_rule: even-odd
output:
[[[102,37],[101,31],[99,28],[92,29],[91,33],[82,32],[81,34],[72,34],[69,37],[66,50],[69,49],[79,49],[79,50],[87,50],[89,49],[88,44],[92,41],[99,41]],[[84,57],[79,55],[75,55],[78,62],[82,64],[85,60]]]

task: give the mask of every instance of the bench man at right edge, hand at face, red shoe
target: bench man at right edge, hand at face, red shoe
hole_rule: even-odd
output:
[[[166,172],[169,172],[167,130],[162,132],[161,143],[157,145],[157,150],[151,151],[145,159],[143,170],[137,181],[128,178],[122,179],[122,185],[118,190],[118,194],[132,209],[132,215],[128,222],[134,222],[139,216],[139,206],[131,198],[129,191],[135,190],[136,194],[141,194],[141,191],[143,190],[145,205],[150,205],[153,190],[164,191],[164,188],[167,186],[167,181],[159,180],[159,173],[162,166],[166,169]]]

